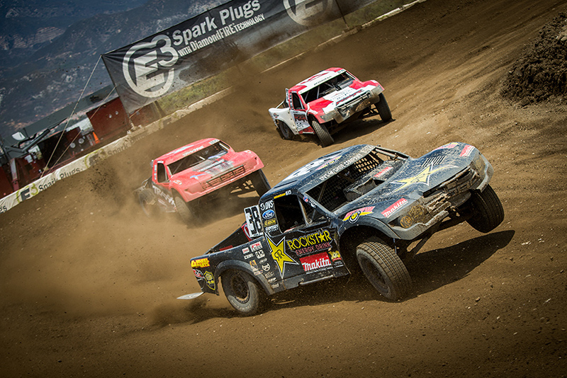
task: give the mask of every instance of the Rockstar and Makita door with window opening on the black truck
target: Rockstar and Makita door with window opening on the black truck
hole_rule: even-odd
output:
[[[268,209],[262,213],[271,257],[283,280],[287,280],[286,288],[348,273],[330,219],[307,213],[313,210],[297,195],[288,194],[273,200],[271,212]]]

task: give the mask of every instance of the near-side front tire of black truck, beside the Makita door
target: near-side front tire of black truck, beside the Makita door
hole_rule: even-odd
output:
[[[380,239],[373,238],[359,244],[357,260],[366,279],[386,299],[402,299],[410,292],[410,273],[393,249]]]

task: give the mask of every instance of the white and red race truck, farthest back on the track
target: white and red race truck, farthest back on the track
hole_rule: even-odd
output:
[[[285,100],[268,111],[283,139],[315,134],[327,147],[335,142],[331,134],[348,121],[374,115],[384,122],[392,119],[383,90],[376,80],[360,81],[346,69],[333,67],[286,89]]]

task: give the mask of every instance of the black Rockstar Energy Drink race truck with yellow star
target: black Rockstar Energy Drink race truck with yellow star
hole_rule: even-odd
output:
[[[454,142],[417,159],[357,145],[299,168],[245,209],[246,222],[191,258],[201,292],[255,314],[266,296],[361,271],[383,297],[411,290],[405,263],[437,231],[468,222],[481,232],[504,219],[493,167]]]

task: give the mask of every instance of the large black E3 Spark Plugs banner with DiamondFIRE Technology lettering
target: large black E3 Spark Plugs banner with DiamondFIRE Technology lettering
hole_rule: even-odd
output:
[[[372,0],[232,0],[102,55],[128,113]]]

